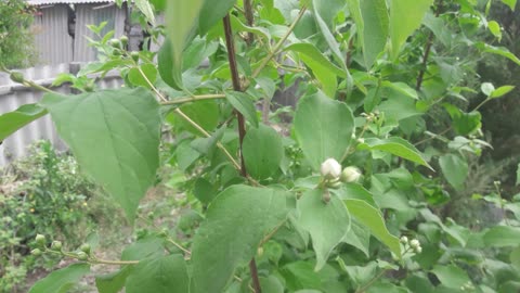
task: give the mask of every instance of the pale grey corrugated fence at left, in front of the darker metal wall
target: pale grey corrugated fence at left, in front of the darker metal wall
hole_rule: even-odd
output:
[[[70,64],[63,63],[58,65],[32,67],[20,72],[24,74],[26,79],[34,80],[41,86],[49,86],[58,74],[70,73]],[[101,89],[118,88],[121,85],[122,80],[117,73],[109,73],[104,79],[98,81],[98,87]],[[53,90],[64,94],[72,93],[68,85],[53,88]],[[23,104],[37,103],[42,95],[42,92],[15,84],[9,78],[9,75],[0,73],[0,115],[14,111]],[[0,127],[2,126],[0,125]],[[66,149],[65,144],[57,137],[51,118],[47,115],[25,126],[3,141],[0,145],[0,166],[4,166],[10,161],[23,156],[27,151],[26,148],[31,142],[40,139],[50,140],[58,150]]]

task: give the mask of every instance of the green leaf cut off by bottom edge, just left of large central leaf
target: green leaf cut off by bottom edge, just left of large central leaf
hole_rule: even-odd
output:
[[[140,262],[128,276],[127,293],[186,293],[190,277],[184,257],[180,254]]]

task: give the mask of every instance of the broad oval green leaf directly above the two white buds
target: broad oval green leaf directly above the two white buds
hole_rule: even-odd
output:
[[[354,118],[347,104],[328,99],[323,92],[307,95],[298,103],[295,130],[303,154],[314,169],[327,158],[339,161],[347,152]]]

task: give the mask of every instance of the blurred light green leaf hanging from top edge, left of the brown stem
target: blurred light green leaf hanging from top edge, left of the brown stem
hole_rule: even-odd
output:
[[[173,84],[170,86],[179,90],[183,88],[182,52],[195,36],[198,27],[199,12],[205,4],[204,2],[204,0],[168,1],[166,8],[166,36],[170,40],[170,46],[167,46],[167,43],[164,46],[170,49],[170,60],[172,61],[169,71],[171,72],[172,78],[170,81],[173,81]]]

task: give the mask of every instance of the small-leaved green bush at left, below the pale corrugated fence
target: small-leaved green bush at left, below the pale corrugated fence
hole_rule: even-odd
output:
[[[96,229],[96,221],[112,217],[107,215],[113,211],[109,204],[100,211],[103,196],[91,200],[100,190],[79,173],[73,156],[58,154],[49,141],[31,145],[26,157],[2,173],[0,289],[11,292],[24,283],[27,272],[51,268],[58,260],[52,256],[36,260],[29,255],[36,234],[48,235],[47,244],[61,240],[78,246]]]

